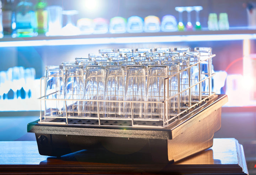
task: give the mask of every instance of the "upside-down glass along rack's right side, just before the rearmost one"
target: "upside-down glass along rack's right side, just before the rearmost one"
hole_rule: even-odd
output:
[[[190,89],[190,94],[191,94],[191,102],[197,103],[200,100],[199,84],[197,84],[199,82],[198,61],[200,60],[200,53],[199,52],[183,52],[183,55],[189,57],[190,66],[196,64],[190,68],[190,86],[193,86]]]

